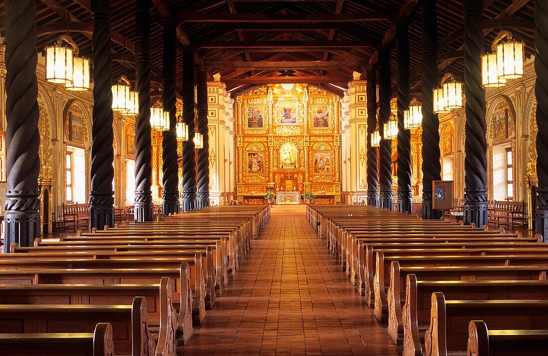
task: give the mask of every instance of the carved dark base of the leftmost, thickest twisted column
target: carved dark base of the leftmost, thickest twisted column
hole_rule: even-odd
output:
[[[7,211],[4,224],[4,253],[9,253],[14,242],[20,247],[31,247],[35,238],[42,236],[40,214],[37,212]]]

